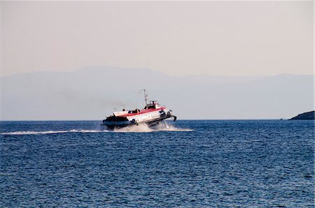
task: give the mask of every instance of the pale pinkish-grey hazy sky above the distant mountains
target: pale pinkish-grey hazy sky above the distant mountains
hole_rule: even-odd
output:
[[[313,1],[2,1],[1,73],[313,74]]]

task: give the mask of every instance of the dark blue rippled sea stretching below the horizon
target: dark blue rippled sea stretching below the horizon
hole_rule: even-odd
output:
[[[314,121],[0,125],[0,207],[314,207]]]

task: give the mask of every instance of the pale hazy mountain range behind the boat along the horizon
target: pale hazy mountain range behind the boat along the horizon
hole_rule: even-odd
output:
[[[280,119],[312,110],[312,75],[171,76],[148,68],[92,66],[1,77],[2,120],[103,119],[144,107],[140,89],[178,119]]]

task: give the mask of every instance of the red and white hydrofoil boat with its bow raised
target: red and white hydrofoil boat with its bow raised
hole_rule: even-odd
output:
[[[173,115],[172,110],[162,106],[158,101],[148,101],[148,94],[146,89],[144,91],[144,101],[146,105],[143,109],[125,110],[113,112],[113,114],[103,120],[102,126],[107,126],[109,130],[114,128],[124,128],[127,126],[138,126],[139,124],[146,124],[148,126],[155,126],[160,124],[165,119],[173,119],[176,121],[177,117]],[[140,92],[141,92],[140,91]]]

